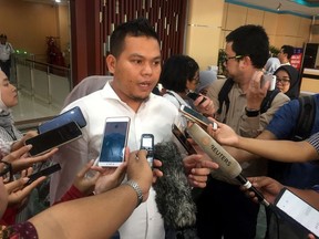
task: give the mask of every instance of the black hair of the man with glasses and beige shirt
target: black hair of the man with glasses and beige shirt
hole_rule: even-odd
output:
[[[236,55],[249,56],[257,69],[263,69],[268,60],[269,39],[261,25],[241,25],[226,37],[226,42],[233,42]]]

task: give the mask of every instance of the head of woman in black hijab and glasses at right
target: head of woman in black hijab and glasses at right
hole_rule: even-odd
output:
[[[274,75],[276,75],[276,87],[286,94],[290,100],[299,97],[300,79],[298,71],[291,65],[281,65]]]

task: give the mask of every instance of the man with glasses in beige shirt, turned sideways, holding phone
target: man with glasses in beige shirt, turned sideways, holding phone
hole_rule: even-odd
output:
[[[268,83],[260,86],[261,70],[269,54],[267,33],[259,25],[239,27],[226,37],[225,52],[224,65],[231,84],[227,93],[228,101],[223,105],[219,105],[218,94],[227,80],[215,81],[208,90],[207,96],[213,100],[216,112],[214,116],[237,134],[256,137],[275,112],[289,101],[286,95],[278,93],[270,107],[265,113],[260,112],[260,104],[269,87]],[[267,174],[265,160],[245,162],[241,167],[245,176]],[[237,185],[225,177],[226,181],[220,180],[222,178],[223,175],[212,173],[212,178],[197,201],[199,237],[255,238],[259,206],[249,201]]]

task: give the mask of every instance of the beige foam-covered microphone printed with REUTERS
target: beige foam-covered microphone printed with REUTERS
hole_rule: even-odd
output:
[[[219,169],[230,179],[237,179],[246,189],[254,191],[258,201],[266,207],[270,204],[264,198],[263,194],[255,188],[251,183],[241,174],[239,163],[226,152],[207,132],[194,123],[187,128],[187,133],[199,145],[199,147],[219,165]]]

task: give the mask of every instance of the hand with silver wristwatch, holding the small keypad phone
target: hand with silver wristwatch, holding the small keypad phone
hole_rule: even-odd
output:
[[[148,190],[152,185],[152,169],[146,159],[145,149],[132,152],[127,160],[127,178],[136,181],[143,191],[143,201],[148,197]]]

